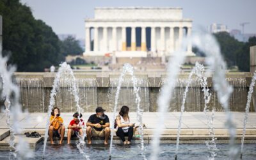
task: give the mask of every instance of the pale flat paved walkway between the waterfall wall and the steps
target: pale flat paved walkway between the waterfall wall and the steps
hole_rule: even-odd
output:
[[[88,120],[88,117],[93,113],[83,113],[83,119]],[[72,120],[73,113],[61,113],[64,120],[64,125],[67,127],[70,120]],[[113,113],[106,113],[109,116],[110,122],[113,119]],[[237,129],[243,129],[244,113],[233,112],[233,122],[236,124]],[[136,122],[136,113],[129,113],[131,122]],[[143,113],[143,123],[147,129],[154,129],[158,125],[158,118],[160,113],[145,112]],[[177,129],[179,125],[179,112],[167,113],[164,120],[165,129]],[[47,120],[47,113],[28,113],[28,116],[23,114],[20,119],[20,124],[25,129],[45,129]],[[226,116],[224,112],[216,112],[214,116],[214,128],[225,129]],[[207,129],[207,119],[202,112],[184,112],[182,118],[182,129]],[[256,129],[256,113],[248,114],[247,129]],[[6,125],[5,113],[0,113],[0,129],[8,129]]]

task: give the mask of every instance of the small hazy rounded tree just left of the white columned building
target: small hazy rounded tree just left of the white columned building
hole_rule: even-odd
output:
[[[61,42],[61,53],[64,56],[67,55],[79,55],[83,54],[83,49],[79,45],[79,41],[68,36],[65,40]]]

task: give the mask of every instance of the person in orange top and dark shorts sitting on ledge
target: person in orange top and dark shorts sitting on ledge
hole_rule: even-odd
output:
[[[54,136],[60,137],[60,144],[62,144],[65,134],[65,127],[63,125],[63,119],[60,117],[60,109],[57,107],[52,108],[51,115],[52,116],[50,118],[50,126],[48,133],[51,144],[54,144]]]

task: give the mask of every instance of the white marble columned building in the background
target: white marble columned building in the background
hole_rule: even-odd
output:
[[[84,56],[170,56],[184,36],[191,35],[192,20],[182,8],[100,7],[85,19]],[[188,45],[188,56],[195,56]]]

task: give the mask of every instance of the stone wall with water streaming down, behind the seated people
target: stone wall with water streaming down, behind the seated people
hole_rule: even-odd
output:
[[[209,106],[216,111],[223,111],[216,93],[213,91],[211,73],[205,75],[212,93]],[[113,111],[119,74],[77,72],[75,76],[80,105],[85,112],[95,111],[97,106],[102,106],[107,111]],[[161,86],[166,81],[166,76],[165,73],[136,73],[138,86],[140,86],[140,106],[144,111],[157,111],[157,97]],[[20,86],[20,102],[23,109],[28,109],[29,112],[47,112],[54,77],[55,73],[15,73],[15,81]],[[188,73],[179,75],[169,111],[180,111],[187,78]],[[226,80],[234,86],[234,92],[230,97],[231,111],[244,111],[251,79],[252,74],[250,73],[227,74]],[[61,108],[62,112],[76,111],[74,97],[69,86],[71,85],[61,84],[56,97],[56,106]],[[126,105],[130,107],[130,111],[136,111],[135,95],[129,76],[126,76],[122,83],[118,104],[118,109],[122,105]],[[196,79],[193,79],[189,87],[185,108],[185,111],[204,110],[204,93]],[[250,111],[254,111],[253,106],[251,106]]]

